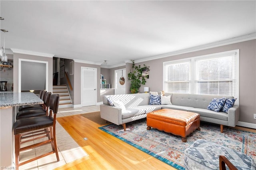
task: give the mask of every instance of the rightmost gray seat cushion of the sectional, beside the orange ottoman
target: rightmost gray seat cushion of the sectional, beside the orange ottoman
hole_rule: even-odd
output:
[[[201,117],[210,117],[214,119],[220,119],[223,121],[228,121],[228,114],[224,112],[214,112],[210,111],[208,109],[200,109],[200,108],[194,108],[189,109],[189,112],[199,113]]]

